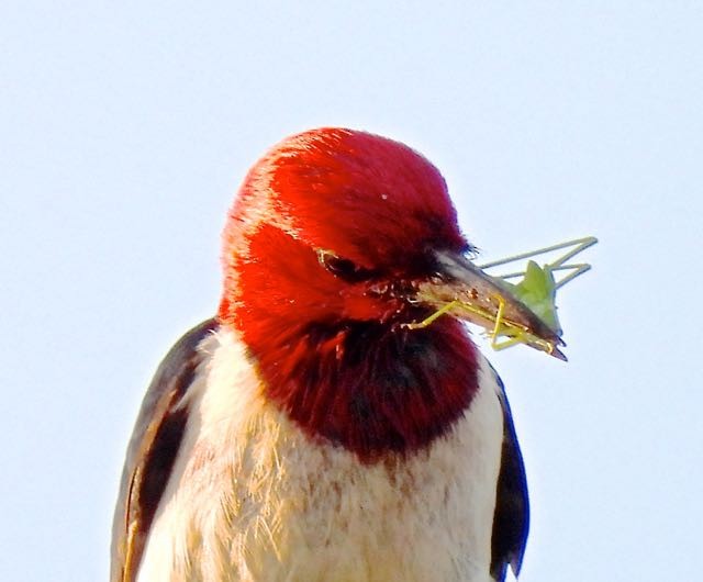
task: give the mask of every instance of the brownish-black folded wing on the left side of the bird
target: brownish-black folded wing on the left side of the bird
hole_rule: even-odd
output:
[[[217,328],[208,320],[183,335],[161,361],[136,419],[112,524],[111,582],[136,580],[144,544],[174,467],[188,419],[179,406],[205,355],[198,345]]]

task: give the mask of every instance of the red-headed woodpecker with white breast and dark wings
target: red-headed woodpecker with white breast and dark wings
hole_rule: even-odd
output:
[[[252,167],[222,240],[214,315],[136,419],[111,582],[517,575],[529,516],[509,402],[446,305],[494,292],[558,338],[476,267],[439,170],[372,133],[305,131]]]

